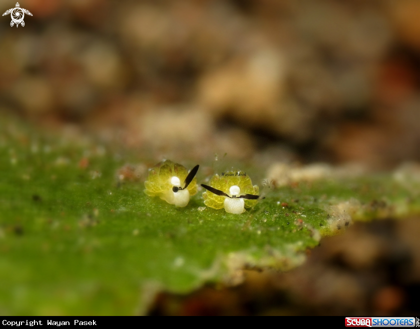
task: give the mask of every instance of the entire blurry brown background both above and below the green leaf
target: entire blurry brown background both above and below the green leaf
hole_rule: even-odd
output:
[[[3,12],[14,5],[0,0]],[[33,14],[24,27],[1,17],[0,111],[36,125],[70,125],[156,158],[227,153],[263,166],[327,161],[374,169],[420,159],[418,0],[20,6]],[[151,312],[405,314],[416,307],[410,293],[420,278],[418,224],[409,225],[356,225],[348,236],[359,244],[327,240],[328,248],[314,251],[316,265],[285,276],[250,274],[239,290],[204,289],[186,301],[162,295]],[[401,279],[407,264],[412,277]],[[329,293],[317,277],[335,284]],[[220,308],[221,300],[231,302]]]

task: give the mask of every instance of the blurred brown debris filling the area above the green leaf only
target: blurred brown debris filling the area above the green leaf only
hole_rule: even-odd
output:
[[[13,111],[155,156],[186,142],[197,158],[243,158],[281,141],[292,159],[420,158],[415,0],[44,2],[27,3],[38,32],[0,40]]]

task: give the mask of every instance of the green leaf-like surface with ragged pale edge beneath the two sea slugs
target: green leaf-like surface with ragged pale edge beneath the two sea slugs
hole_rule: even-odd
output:
[[[0,314],[142,314],[161,290],[295,267],[351,220],[420,213],[409,170],[276,188],[253,180],[265,198],[242,214],[205,207],[203,190],[176,208],[147,196],[141,174],[123,179],[128,162],[148,163],[124,154],[2,117]]]

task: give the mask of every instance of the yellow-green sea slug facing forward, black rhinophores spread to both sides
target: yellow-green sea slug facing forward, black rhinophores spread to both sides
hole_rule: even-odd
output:
[[[202,193],[205,205],[214,209],[224,208],[226,212],[242,213],[256,203],[259,195],[257,185],[242,171],[222,172],[211,177]]]

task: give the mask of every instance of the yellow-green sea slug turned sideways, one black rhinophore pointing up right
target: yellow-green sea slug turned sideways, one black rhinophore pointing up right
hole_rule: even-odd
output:
[[[161,161],[150,169],[144,182],[146,187],[144,193],[149,196],[159,196],[177,207],[184,207],[188,204],[189,197],[197,192],[195,178],[197,171],[198,164],[188,173],[188,170],[179,163],[170,160]]]

